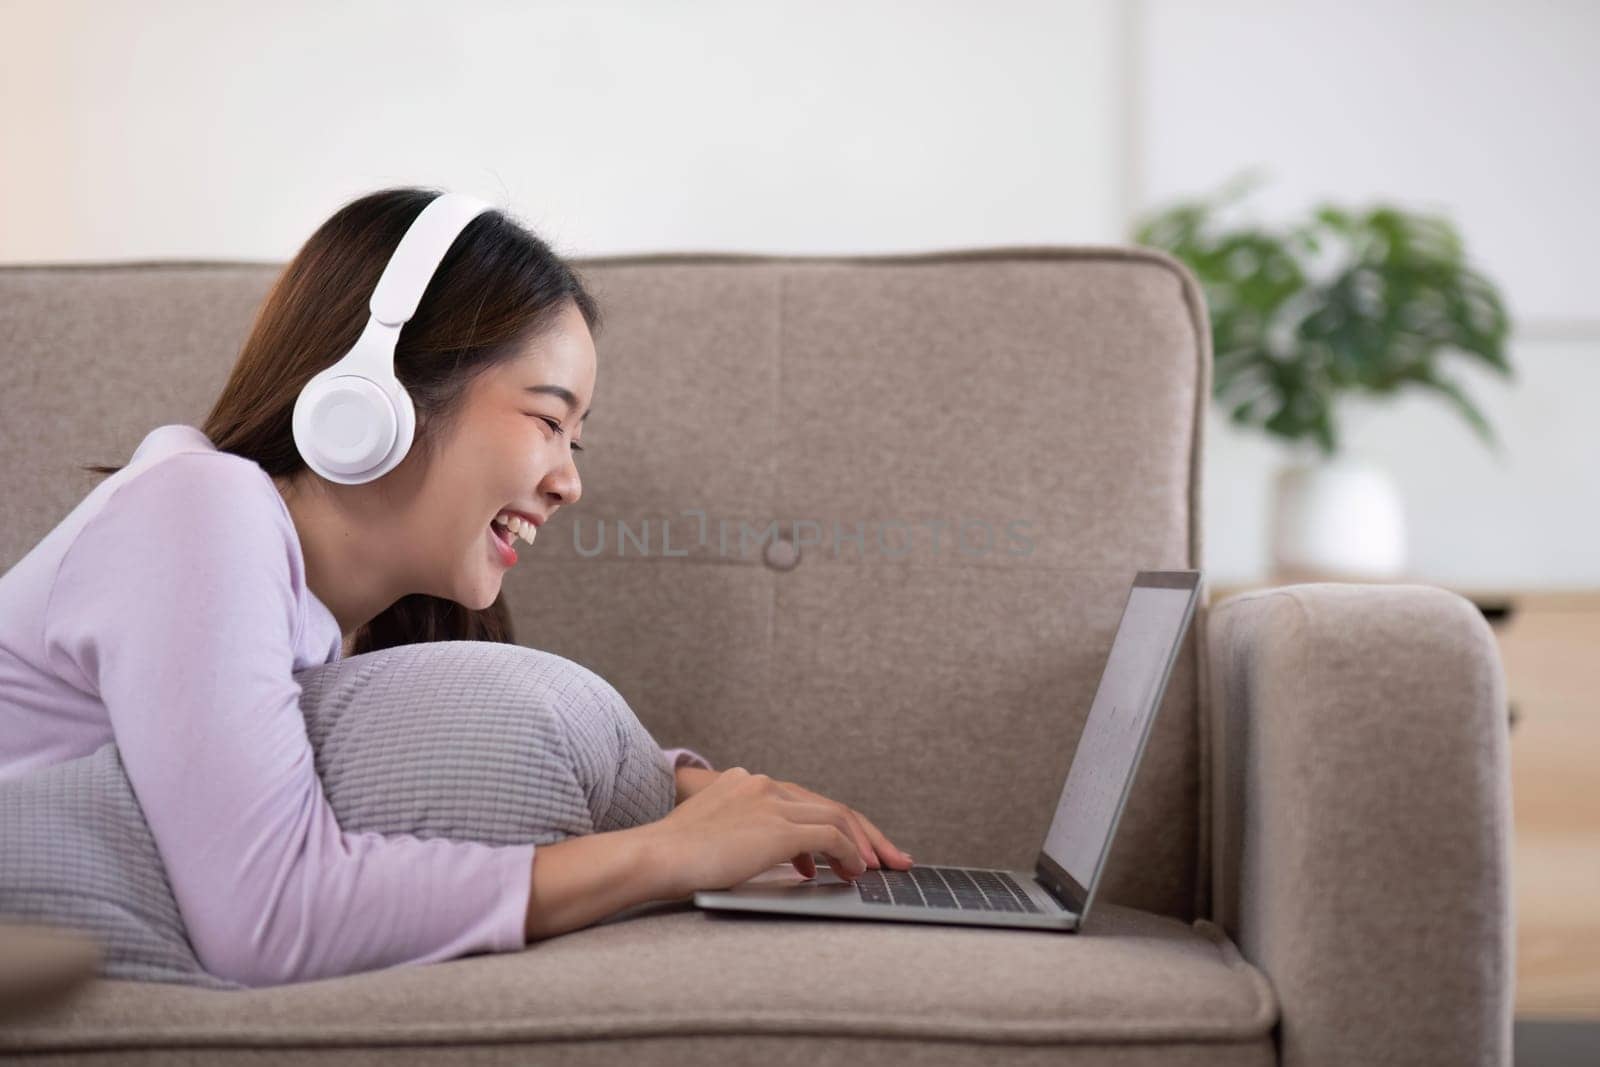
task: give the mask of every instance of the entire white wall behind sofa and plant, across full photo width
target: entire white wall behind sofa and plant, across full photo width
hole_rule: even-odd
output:
[[[1424,581],[1600,585],[1600,5],[0,0],[0,262],[286,259],[386,184],[490,197],[566,254],[1118,243],[1245,165],[1451,211],[1515,386],[1352,448]],[[1266,577],[1280,451],[1213,419],[1206,569]]]

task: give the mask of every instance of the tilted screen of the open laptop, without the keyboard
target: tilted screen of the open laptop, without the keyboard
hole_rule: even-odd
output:
[[[1085,897],[1093,897],[1094,880],[1110,851],[1117,817],[1189,629],[1197,581],[1198,571],[1141,571],[1128,592],[1056,817],[1045,835],[1045,859],[1070,875]]]

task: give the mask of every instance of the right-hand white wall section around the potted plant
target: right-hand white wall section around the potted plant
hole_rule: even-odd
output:
[[[1515,381],[1453,371],[1506,454],[1430,394],[1354,402],[1350,451],[1400,483],[1411,573],[1456,587],[1600,587],[1600,5],[1144,0],[1131,203],[1246,166],[1259,218],[1323,198],[1440,210],[1515,322]],[[1286,451],[1213,410],[1206,565],[1267,577]]]

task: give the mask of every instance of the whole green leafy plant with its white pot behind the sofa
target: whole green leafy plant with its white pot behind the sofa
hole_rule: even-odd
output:
[[[1394,477],[1341,453],[1334,403],[1427,389],[1499,451],[1442,363],[1454,352],[1510,379],[1506,304],[1440,216],[1322,203],[1282,230],[1222,224],[1221,213],[1256,184],[1246,174],[1211,198],[1146,214],[1134,242],[1171,253],[1198,278],[1213,397],[1229,421],[1290,448],[1274,486],[1274,577],[1398,577],[1406,534]]]

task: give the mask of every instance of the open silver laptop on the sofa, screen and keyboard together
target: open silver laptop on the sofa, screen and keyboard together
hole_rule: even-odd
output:
[[[1150,725],[1200,597],[1200,571],[1139,571],[1034,870],[869,869],[854,881],[784,862],[694,905],[722,912],[1075,931],[1088,918]]]

